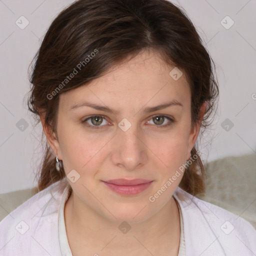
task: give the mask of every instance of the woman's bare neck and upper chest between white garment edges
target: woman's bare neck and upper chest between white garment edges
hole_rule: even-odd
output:
[[[173,251],[173,255],[176,255],[178,250],[179,212],[173,197],[158,212],[144,221],[123,224],[123,232],[118,228],[121,222],[117,223],[104,218],[81,203],[73,191],[65,203],[64,215],[69,246],[72,253],[75,250],[78,255],[78,251],[84,251],[81,246],[88,250],[90,248],[94,253],[104,248],[104,253],[109,251],[109,255],[113,254],[113,251],[122,252],[122,255],[127,251],[126,253],[129,254],[129,249],[132,249],[133,253],[145,249],[151,251],[157,244],[155,253],[151,251],[153,255],[165,255],[164,252],[170,255],[170,250]],[[125,233],[125,228],[129,227],[129,231]],[[79,246],[81,250],[77,249]],[[159,247],[162,248],[162,253]]]

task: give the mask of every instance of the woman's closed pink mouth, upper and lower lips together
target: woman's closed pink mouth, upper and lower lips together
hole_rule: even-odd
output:
[[[148,179],[110,179],[102,182],[112,191],[121,195],[134,195],[148,188],[153,180]]]

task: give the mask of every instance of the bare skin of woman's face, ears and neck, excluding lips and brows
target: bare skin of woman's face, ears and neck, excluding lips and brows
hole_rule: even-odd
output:
[[[61,93],[56,134],[41,116],[47,141],[63,161],[65,173],[75,169],[80,175],[76,182],[69,181],[73,191],[64,209],[73,255],[177,255],[179,213],[172,194],[182,172],[154,202],[148,199],[189,159],[200,127],[200,123],[191,125],[191,96],[184,72],[174,80],[169,75],[172,68],[156,52],[142,51],[100,78]],[[70,110],[82,100],[119,113],[88,106]],[[169,100],[182,106],[143,112],[144,107]],[[174,121],[157,122],[155,114]],[[104,116],[101,121],[85,122],[100,128],[82,123],[90,115]],[[126,131],[118,127],[123,118],[131,123]],[[153,182],[141,193],[127,196],[116,194],[101,181],[115,178]],[[131,227],[125,234],[118,229],[122,221]]]

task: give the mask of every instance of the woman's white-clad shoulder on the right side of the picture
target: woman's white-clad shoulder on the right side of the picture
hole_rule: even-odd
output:
[[[181,208],[188,251],[197,244],[193,253],[201,256],[256,254],[256,230],[248,221],[180,187],[173,196]]]

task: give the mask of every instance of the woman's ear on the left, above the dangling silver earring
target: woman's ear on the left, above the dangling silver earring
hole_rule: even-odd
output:
[[[58,159],[62,160],[61,151],[59,148],[59,142],[52,127],[45,123],[45,114],[40,114],[40,120],[42,123],[43,132],[47,138],[48,144],[55,155],[58,155]]]

